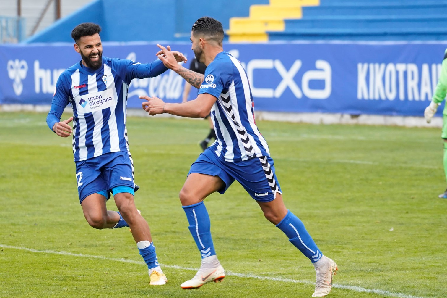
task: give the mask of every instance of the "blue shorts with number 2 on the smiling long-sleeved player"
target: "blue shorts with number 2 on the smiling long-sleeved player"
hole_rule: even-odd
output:
[[[112,189],[118,193],[126,189],[136,191],[139,188],[134,183],[133,162],[127,151],[105,153],[75,163],[81,204],[93,193],[100,193],[108,200]]]

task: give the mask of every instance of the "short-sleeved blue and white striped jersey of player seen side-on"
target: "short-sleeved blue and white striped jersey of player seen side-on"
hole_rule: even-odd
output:
[[[199,94],[217,98],[211,119],[217,136],[215,153],[228,162],[269,156],[269,146],[254,119],[247,74],[232,55],[220,52],[208,65]]]

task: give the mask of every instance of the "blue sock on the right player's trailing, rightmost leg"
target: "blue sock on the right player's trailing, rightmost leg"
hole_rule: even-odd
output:
[[[286,216],[276,226],[289,237],[289,241],[295,245],[303,255],[307,256],[312,263],[320,260],[323,254],[309,235],[303,222],[300,221],[295,214],[291,213],[290,210],[287,210]]]

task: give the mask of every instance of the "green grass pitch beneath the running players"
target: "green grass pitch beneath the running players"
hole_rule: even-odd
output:
[[[63,115],[63,119],[69,115]],[[304,298],[310,261],[270,224],[238,183],[205,201],[227,277],[182,290],[200,255],[178,192],[207,122],[128,118],[149,222],[169,281],[149,286],[127,228],[88,226],[76,190],[71,138],[46,114],[0,113],[0,297]],[[447,200],[439,128],[259,121],[287,208],[339,271],[330,298],[444,298]],[[113,200],[109,209],[116,210]]]

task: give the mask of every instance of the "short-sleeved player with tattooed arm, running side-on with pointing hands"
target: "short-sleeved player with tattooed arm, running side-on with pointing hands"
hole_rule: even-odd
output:
[[[207,65],[204,75],[179,65],[169,47],[158,45],[161,51],[157,54],[166,67],[199,89],[197,98],[184,103],[166,103],[160,98],[140,96],[146,100],[142,107],[149,115],[204,117],[211,111],[217,136],[217,141],[192,164],[179,195],[202,257],[196,275],[181,284],[181,288],[196,289],[225,277],[203,200],[214,192],[223,194],[237,180],[259,204],[266,219],[283,231],[314,265],[316,285],[312,297],[326,296],[332,289],[337,264],[323,255],[303,222],[283,202],[269,146],[255,123],[247,73],[236,58],[223,51],[222,24],[211,17],[201,17],[192,26],[190,39],[196,59]]]

